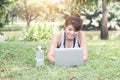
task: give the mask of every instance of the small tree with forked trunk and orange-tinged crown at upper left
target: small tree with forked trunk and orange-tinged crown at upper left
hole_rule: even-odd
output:
[[[30,3],[30,0],[19,0],[14,7],[14,14],[27,22],[27,27],[30,27],[31,21],[35,20],[40,15],[40,4]]]

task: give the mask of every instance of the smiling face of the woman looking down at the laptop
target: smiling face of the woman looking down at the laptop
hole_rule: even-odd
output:
[[[75,36],[78,34],[78,31],[75,31],[72,25],[68,25],[67,27],[65,27],[65,32],[66,32],[66,38],[69,40],[73,40]]]

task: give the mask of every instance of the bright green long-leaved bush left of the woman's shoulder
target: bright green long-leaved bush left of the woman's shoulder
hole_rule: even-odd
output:
[[[41,24],[24,29],[23,39],[28,41],[40,41],[51,39],[55,28],[51,25]]]

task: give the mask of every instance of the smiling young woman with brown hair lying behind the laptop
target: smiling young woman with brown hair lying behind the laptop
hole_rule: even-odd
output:
[[[82,20],[78,13],[69,16],[64,24],[64,30],[59,31],[53,35],[48,50],[48,59],[51,62],[55,61],[54,49],[55,48],[83,48],[84,61],[88,58],[88,51],[86,45],[86,38],[83,31],[81,31]]]

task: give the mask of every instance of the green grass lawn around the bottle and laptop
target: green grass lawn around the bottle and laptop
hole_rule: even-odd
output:
[[[0,80],[120,80],[120,40],[88,40],[89,59],[79,67],[56,67],[47,58],[49,41],[0,42]],[[45,66],[36,67],[42,45]]]

